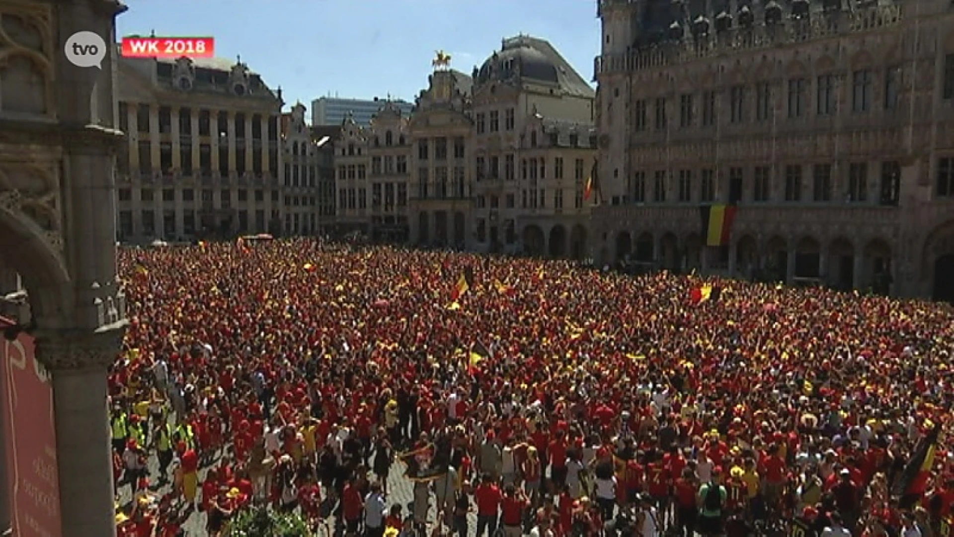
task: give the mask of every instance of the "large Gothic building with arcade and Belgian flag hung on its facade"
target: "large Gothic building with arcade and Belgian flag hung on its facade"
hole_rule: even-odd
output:
[[[597,12],[600,261],[954,300],[949,0]]]

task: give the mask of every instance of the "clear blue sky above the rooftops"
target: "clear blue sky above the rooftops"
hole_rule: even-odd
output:
[[[434,52],[470,74],[504,36],[548,39],[586,79],[600,46],[594,0],[126,0],[117,35],[212,36],[280,85],[286,102],[424,89]]]

